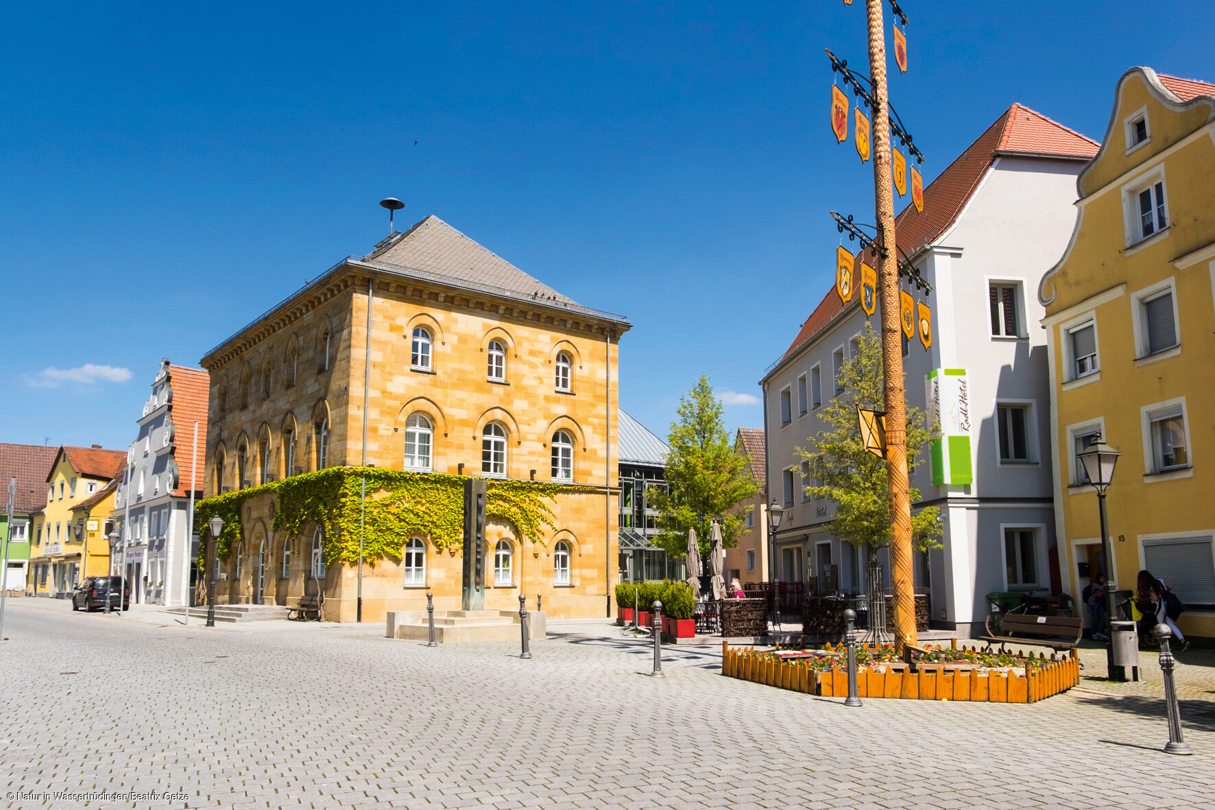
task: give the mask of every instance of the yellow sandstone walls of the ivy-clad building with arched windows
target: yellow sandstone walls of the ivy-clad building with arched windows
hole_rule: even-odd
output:
[[[406,466],[406,435],[411,418],[422,416],[430,429],[423,472],[484,474],[485,433],[497,426],[505,445],[497,477],[549,482],[555,480],[553,440],[564,432],[572,439],[567,483],[592,491],[558,495],[556,529],[542,542],[524,544],[513,525],[488,522],[485,607],[518,609],[522,592],[530,609],[543,596],[549,617],[606,615],[617,562],[617,341],[627,321],[364,261],[330,270],[203,358],[211,383],[207,495],[363,462],[372,285],[366,462],[417,469]],[[424,364],[416,356],[419,328],[429,341]],[[491,365],[491,354],[501,365]],[[567,384],[558,373],[566,360]],[[357,568],[332,566],[315,579],[315,529],[294,536],[276,531],[275,506],[272,495],[245,504],[243,542],[221,567],[216,601],[294,606],[323,590],[327,619],[355,620]],[[418,539],[425,553],[422,581],[407,581],[394,559],[367,561],[363,621],[383,620],[388,611],[424,609],[428,591],[436,609],[460,608],[460,551]],[[501,540],[510,547],[510,575],[496,585]],[[556,573],[558,544],[569,551],[567,584]]]

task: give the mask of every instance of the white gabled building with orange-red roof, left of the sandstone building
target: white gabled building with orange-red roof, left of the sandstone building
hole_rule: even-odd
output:
[[[120,540],[113,573],[131,580],[131,601],[183,604],[194,576],[198,536],[191,531],[191,495],[203,496],[210,376],[160,361],[152,395],[136,420],[139,433],[118,473],[114,518]]]

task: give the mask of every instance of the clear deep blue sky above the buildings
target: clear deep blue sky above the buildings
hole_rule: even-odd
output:
[[[758,426],[827,210],[872,221],[823,54],[864,64],[861,0],[113,5],[2,12],[4,441],[125,446],[160,358],[368,252],[385,196],[629,316],[656,433],[700,373]],[[1100,139],[1126,68],[1215,80],[1210,2],[903,5],[926,182],[1015,101]]]

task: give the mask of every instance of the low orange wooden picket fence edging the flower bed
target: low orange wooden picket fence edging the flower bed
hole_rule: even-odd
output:
[[[722,675],[744,681],[767,684],[782,690],[847,697],[848,673],[841,666],[815,671],[798,660],[778,660],[757,653],[755,647],[730,647],[722,642]],[[857,691],[863,698],[903,698],[909,701],[983,701],[990,703],[1036,703],[1080,682],[1080,660],[1073,652],[1058,660],[1034,666],[1025,664],[1025,675],[983,673],[976,669],[875,673],[861,668],[857,673]]]

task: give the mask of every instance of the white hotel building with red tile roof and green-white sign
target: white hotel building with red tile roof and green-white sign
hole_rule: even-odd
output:
[[[1067,244],[1075,178],[1097,148],[1012,105],[923,190],[923,212],[909,204],[897,218],[902,257],[933,287],[926,297],[903,285],[932,308],[934,332],[929,347],[917,337],[904,349],[908,405],[926,409],[927,387],[942,379],[965,381],[968,398],[957,427],[945,409],[953,438],[911,482],[921,493],[912,508],[938,506],[944,531],[943,549],[916,555],[915,584],[933,621],[960,635],[982,629],[988,592],[1059,590],[1046,338],[1033,293]],[[823,429],[835,370],[864,330],[861,260],[877,264],[858,254],[852,300],[831,289],[761,381],[769,497],[787,507],[773,541],[776,576],[820,591],[868,587],[865,553],[831,534],[835,507],[806,496],[796,454]],[[881,331],[880,313],[868,320]],[[888,589],[887,552],[878,558]]]

